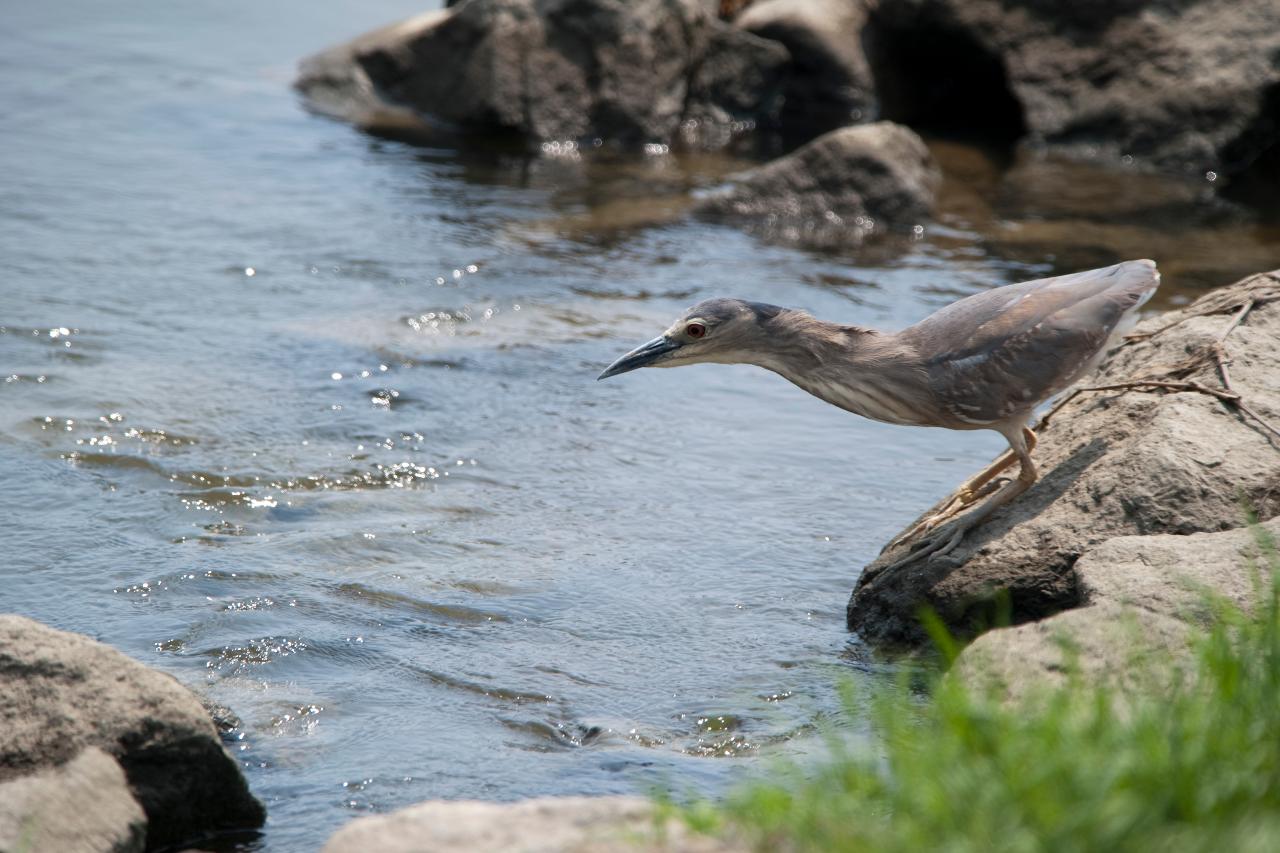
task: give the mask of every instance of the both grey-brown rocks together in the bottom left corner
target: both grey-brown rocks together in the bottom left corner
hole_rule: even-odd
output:
[[[79,634],[0,616],[0,849],[156,850],[262,825],[200,701]]]

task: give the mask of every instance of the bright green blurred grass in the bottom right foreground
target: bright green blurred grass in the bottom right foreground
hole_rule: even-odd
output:
[[[1277,850],[1280,565],[1263,552],[1253,615],[1215,602],[1161,690],[1071,678],[1009,704],[959,679],[924,702],[904,684],[870,702],[876,752],[832,738],[817,766],[682,815],[767,850]]]

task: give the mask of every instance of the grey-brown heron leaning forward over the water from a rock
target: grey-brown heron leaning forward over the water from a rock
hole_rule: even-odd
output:
[[[886,546],[914,540],[887,566],[892,570],[950,552],[1036,483],[1034,412],[1097,366],[1158,286],[1155,261],[1124,261],[973,293],[900,332],[717,297],[687,309],[598,378],[637,368],[750,364],[872,420],[1004,435],[1006,453],[969,478],[938,512]],[[1015,461],[1018,475],[998,482]]]

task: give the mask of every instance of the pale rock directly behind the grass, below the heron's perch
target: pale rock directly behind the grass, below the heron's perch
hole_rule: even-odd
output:
[[[1280,519],[1262,525],[1280,537]],[[1211,598],[1243,610],[1254,603],[1254,566],[1265,565],[1257,532],[1116,537],[1075,565],[1085,603],[1050,619],[983,634],[952,672],[1011,699],[1078,672],[1121,692],[1158,694],[1174,675],[1155,660],[1188,653],[1193,628],[1207,628]]]

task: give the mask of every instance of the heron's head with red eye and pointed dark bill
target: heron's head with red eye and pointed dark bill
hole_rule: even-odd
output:
[[[714,298],[685,311],[671,328],[604,369],[600,379],[636,368],[751,361],[767,337],[765,324],[782,309],[744,300]]]

